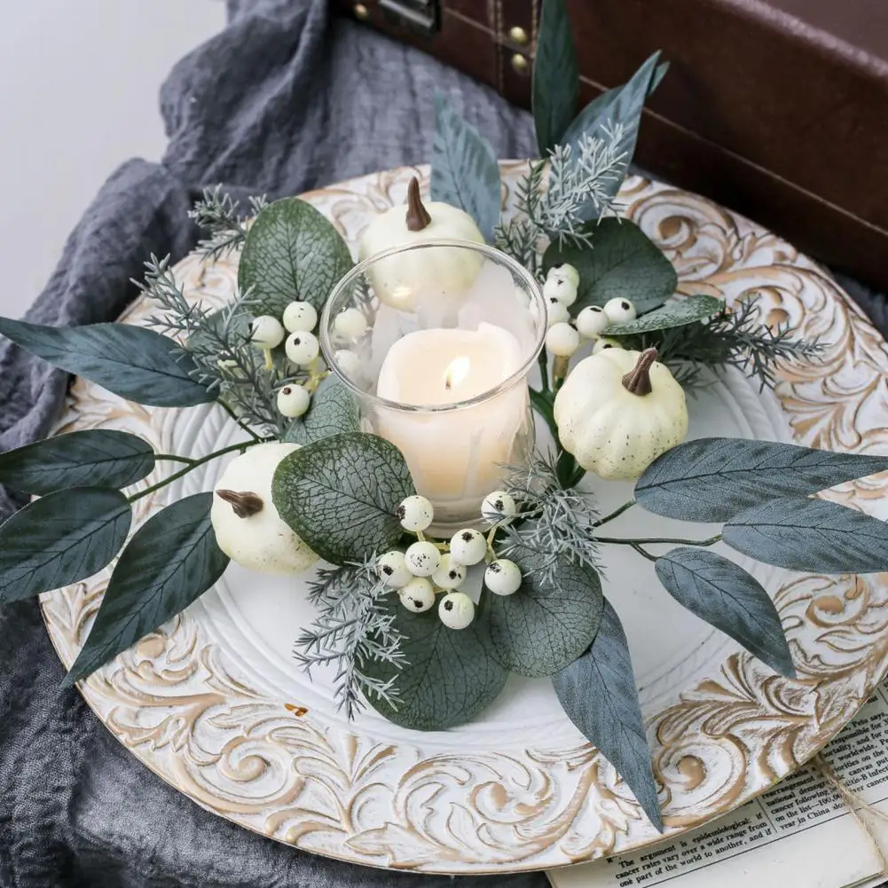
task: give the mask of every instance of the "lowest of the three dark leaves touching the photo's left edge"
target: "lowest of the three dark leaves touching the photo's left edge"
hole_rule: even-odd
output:
[[[0,602],[79,583],[105,567],[130,531],[119,490],[71,488],[28,503],[0,526]]]

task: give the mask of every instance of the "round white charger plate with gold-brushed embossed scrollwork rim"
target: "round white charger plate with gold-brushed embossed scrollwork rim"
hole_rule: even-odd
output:
[[[524,170],[504,163],[506,191]],[[403,202],[392,170],[304,195],[354,245],[377,212]],[[749,436],[888,453],[888,348],[829,274],[788,243],[709,201],[642,178],[622,189],[626,215],[678,269],[683,294],[760,294],[765,320],[827,345],[821,364],[780,374],[775,392],[730,373],[690,400],[691,435]],[[222,304],[236,258],[178,264],[194,299]],[[139,301],[122,321],[141,323]],[[145,408],[78,380],[58,432],[124,429],[159,451],[201,456],[236,439],[214,406]],[[210,490],[225,459],[136,503],[136,521]],[[158,480],[155,473],[139,488]],[[888,476],[829,497],[888,518]],[[630,485],[595,485],[601,510]],[[636,508],[614,532],[710,535],[710,526]],[[609,527],[609,530],[611,528]],[[606,594],[629,637],[667,829],[700,825],[792,772],[852,717],[888,666],[888,575],[826,577],[756,565],[780,609],[798,680],[775,675],[687,613],[628,549],[607,547]],[[747,567],[752,562],[743,562]],[[43,597],[66,666],[91,626],[109,572]],[[236,565],[184,614],[81,685],[132,754],[195,802],[242,826],[355,863],[424,872],[550,868],[637,850],[661,836],[614,768],[560,710],[548,679],[512,677],[470,725],[415,733],[372,711],[353,724],[322,674],[309,683],[290,651],[310,619],[304,580]]]

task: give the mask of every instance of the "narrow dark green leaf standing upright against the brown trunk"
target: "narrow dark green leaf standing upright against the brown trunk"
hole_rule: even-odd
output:
[[[559,144],[579,104],[580,65],[565,0],[543,0],[532,94],[540,156]]]

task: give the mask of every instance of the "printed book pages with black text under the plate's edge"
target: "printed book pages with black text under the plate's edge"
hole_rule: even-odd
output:
[[[888,813],[888,682],[823,754],[847,789]],[[888,849],[888,821],[862,816]],[[873,888],[888,883],[882,865],[843,798],[809,765],[701,829],[548,876],[555,888]]]

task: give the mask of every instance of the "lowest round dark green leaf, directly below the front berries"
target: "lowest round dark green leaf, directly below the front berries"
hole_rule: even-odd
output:
[[[464,724],[494,702],[509,673],[490,652],[485,598],[472,623],[454,630],[440,622],[437,610],[414,614],[392,595],[393,628],[404,637],[401,646],[406,664],[399,670],[391,663],[373,660],[364,668],[384,681],[395,678],[400,702],[394,709],[391,703],[369,694],[370,705],[395,725],[414,731],[443,731]]]

